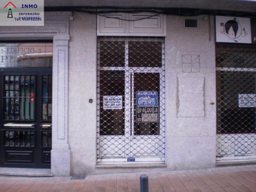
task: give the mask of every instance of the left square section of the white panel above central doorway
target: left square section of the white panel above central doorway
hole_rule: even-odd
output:
[[[119,18],[119,19],[116,19]],[[104,14],[98,16],[98,32],[100,33],[125,33],[125,13]]]

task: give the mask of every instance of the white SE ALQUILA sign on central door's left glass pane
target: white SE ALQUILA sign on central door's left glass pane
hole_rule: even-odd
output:
[[[108,95],[103,96],[103,109],[122,109],[123,97],[122,95]]]

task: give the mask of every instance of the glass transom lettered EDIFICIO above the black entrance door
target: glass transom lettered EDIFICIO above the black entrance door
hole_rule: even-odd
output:
[[[0,67],[52,67],[52,43],[0,43]]]

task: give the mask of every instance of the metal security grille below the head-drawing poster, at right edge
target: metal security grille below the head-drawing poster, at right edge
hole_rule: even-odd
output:
[[[217,157],[256,155],[256,45],[216,44]]]

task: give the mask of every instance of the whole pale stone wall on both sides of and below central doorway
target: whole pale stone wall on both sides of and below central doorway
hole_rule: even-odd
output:
[[[214,17],[210,18],[211,31],[209,20],[203,17],[194,17],[199,22],[197,29],[184,28],[184,17],[166,17],[167,168],[95,168],[96,16],[73,13],[68,81],[71,174],[215,166]]]

